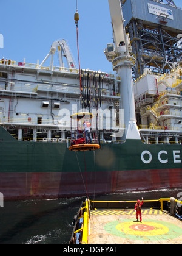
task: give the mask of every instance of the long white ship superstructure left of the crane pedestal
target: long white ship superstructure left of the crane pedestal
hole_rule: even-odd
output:
[[[70,137],[70,115],[81,109],[79,70],[53,65],[52,54],[55,48],[59,51],[58,44],[60,41],[53,43],[50,50],[50,66],[0,60],[0,124],[19,141],[62,142]],[[69,64],[73,58],[69,59],[68,52],[66,55]],[[111,115],[119,109],[120,77],[85,69],[81,72],[90,112],[101,110],[100,139],[111,142],[115,139]],[[106,127],[104,112],[109,111]]]

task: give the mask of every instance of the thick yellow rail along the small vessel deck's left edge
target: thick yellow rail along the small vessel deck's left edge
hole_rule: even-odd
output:
[[[84,207],[84,224],[83,224],[83,235],[82,235],[82,244],[88,243],[89,235],[89,199],[86,199],[86,206]]]

